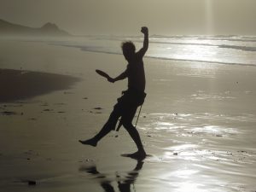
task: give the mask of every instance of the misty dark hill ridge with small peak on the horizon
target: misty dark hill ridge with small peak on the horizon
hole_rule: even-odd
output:
[[[54,23],[46,23],[39,28],[21,26],[0,19],[0,35],[6,36],[70,36],[68,32],[61,30]]]

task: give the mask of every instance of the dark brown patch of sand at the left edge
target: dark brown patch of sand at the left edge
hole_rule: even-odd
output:
[[[53,73],[0,69],[0,102],[15,102],[55,90],[67,90],[78,78]]]

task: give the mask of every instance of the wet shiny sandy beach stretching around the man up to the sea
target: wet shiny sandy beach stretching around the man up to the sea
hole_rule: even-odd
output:
[[[96,148],[126,80],[122,55],[37,42],[0,43],[0,191],[256,191],[256,67],[144,60],[148,94],[137,129]],[[33,90],[33,91],[32,91]],[[135,120],[133,123],[135,123]]]

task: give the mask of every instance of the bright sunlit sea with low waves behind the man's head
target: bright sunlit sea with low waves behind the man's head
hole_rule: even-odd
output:
[[[52,45],[74,47],[83,51],[122,54],[120,45],[131,40],[140,49],[141,37],[84,36],[65,40],[45,40]],[[256,66],[255,36],[159,36],[150,37],[147,57],[176,61],[199,61]]]

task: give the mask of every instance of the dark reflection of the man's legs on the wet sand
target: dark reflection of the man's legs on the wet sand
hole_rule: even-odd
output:
[[[127,172],[127,176],[125,179],[121,179],[119,175],[116,176],[116,180],[118,182],[119,191],[120,192],[130,192],[131,191],[131,184],[135,183],[139,171],[143,168],[143,161],[137,160],[137,166],[131,171]],[[105,192],[114,192],[113,186],[111,185],[111,181],[108,180],[108,178],[102,174],[101,172],[98,172],[96,169],[96,166],[90,166],[90,167],[81,167],[79,171],[85,171],[90,174],[93,174],[100,180],[100,184],[102,186],[102,189],[105,190]],[[106,179],[104,179],[106,178]]]

